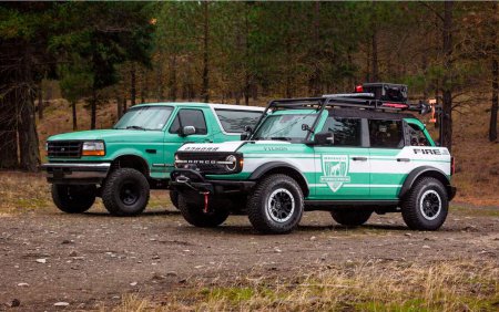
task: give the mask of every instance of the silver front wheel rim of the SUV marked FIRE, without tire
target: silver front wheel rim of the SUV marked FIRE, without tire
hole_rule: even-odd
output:
[[[295,198],[289,190],[278,188],[271,194],[265,208],[272,220],[279,223],[286,222],[295,211]]]

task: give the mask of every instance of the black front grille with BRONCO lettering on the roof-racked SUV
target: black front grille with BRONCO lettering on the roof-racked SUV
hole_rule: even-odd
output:
[[[227,170],[224,164],[216,164],[225,162],[225,158],[231,154],[236,155],[235,153],[179,152],[176,153],[177,162],[175,162],[175,166],[177,168],[195,168],[202,174],[232,174],[234,171]]]

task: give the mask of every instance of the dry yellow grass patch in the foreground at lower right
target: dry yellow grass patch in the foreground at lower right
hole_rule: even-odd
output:
[[[329,266],[284,279],[240,275],[225,283],[190,287],[167,294],[162,303],[150,303],[151,310],[497,311],[499,305],[496,262],[370,262]]]

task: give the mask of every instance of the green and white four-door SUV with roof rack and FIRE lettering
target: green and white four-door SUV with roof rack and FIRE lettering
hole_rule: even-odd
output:
[[[401,212],[416,230],[437,230],[456,194],[454,158],[405,111],[407,87],[364,84],[361,93],[272,101],[241,142],[185,144],[171,186],[197,227],[247,214],[265,233],[293,230],[304,211],[326,210],[345,226],[373,212]]]

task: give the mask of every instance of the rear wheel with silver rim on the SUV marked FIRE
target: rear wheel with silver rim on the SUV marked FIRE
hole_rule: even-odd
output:
[[[413,230],[434,231],[444,225],[449,209],[447,190],[435,178],[421,178],[403,201],[401,214]]]

